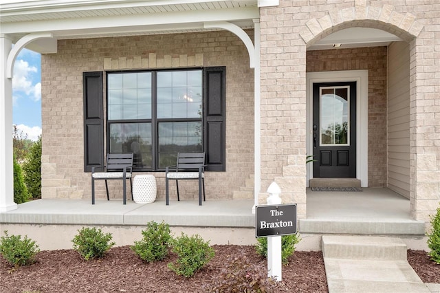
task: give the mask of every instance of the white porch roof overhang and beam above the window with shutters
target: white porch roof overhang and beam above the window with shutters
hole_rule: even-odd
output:
[[[46,0],[0,5],[1,33],[10,36],[12,43],[33,32],[50,32],[54,39],[196,32],[213,21],[245,29],[253,28],[252,19],[258,18],[256,0]],[[28,48],[45,53],[45,41]]]

